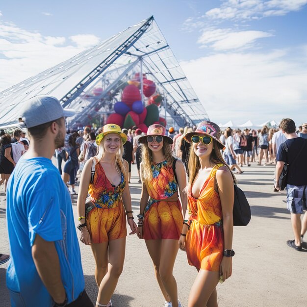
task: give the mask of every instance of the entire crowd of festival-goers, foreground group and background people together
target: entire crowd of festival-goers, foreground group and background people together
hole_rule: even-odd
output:
[[[41,116],[46,112],[48,116]],[[231,276],[235,254],[232,171],[242,174],[242,167],[261,165],[264,157],[264,165],[276,163],[279,178],[282,161],[289,161],[279,149],[284,135],[291,140],[290,152],[303,147],[302,157],[307,153],[302,136],[307,135],[307,124],[299,138],[293,121],[281,122],[279,131],[263,127],[242,133],[227,128],[222,133],[215,123],[203,121],[197,127],[179,128],[178,133],[159,124],[150,126],[147,134],[137,127],[107,124],[96,133],[85,127],[66,134],[65,117],[71,113],[53,97],[32,98],[22,114],[31,142],[23,149],[19,146],[23,158],[14,161],[7,133],[1,135],[0,147],[11,252],[6,283],[12,306],[22,301],[24,306],[92,307],[84,290],[79,239],[90,245],[95,259],[95,306],[111,307],[124,266],[127,224],[130,235],[145,240],[165,307],[181,306],[173,275],[179,249],[198,271],[188,306],[217,306],[216,286]],[[21,144],[19,133],[14,131],[14,137]],[[142,186],[136,216],[129,191],[134,162]],[[76,231],[71,195],[76,194],[78,173]],[[287,193],[296,227],[295,240],[288,245],[301,250],[300,235],[307,228],[306,214],[300,224],[307,182],[306,177],[293,176]],[[277,183],[274,189],[279,190]]]

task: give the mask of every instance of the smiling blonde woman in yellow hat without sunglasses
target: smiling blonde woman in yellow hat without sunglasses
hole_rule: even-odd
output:
[[[80,179],[78,229],[80,240],[91,245],[96,262],[96,307],[112,306],[110,299],[124,265],[126,223],[130,234],[138,231],[131,211],[128,162],[122,158],[126,141],[127,135],[119,126],[103,126],[96,138],[99,153],[85,163]]]

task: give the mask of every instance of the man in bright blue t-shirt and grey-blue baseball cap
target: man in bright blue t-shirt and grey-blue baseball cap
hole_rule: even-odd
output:
[[[65,116],[73,114],[48,96],[33,97],[21,113],[31,144],[7,188],[12,307],[93,307],[84,291],[70,194],[51,162],[64,146]]]

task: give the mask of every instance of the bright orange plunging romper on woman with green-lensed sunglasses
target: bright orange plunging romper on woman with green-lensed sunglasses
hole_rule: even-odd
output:
[[[189,264],[198,270],[219,271],[223,258],[222,207],[214,189],[215,174],[221,166],[212,168],[198,199],[192,196],[192,187],[188,191],[191,225],[186,235],[186,254]]]

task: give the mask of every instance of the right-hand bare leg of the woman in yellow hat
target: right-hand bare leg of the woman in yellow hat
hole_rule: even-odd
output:
[[[107,305],[114,293],[118,279],[123,272],[126,237],[109,241],[108,271],[104,275],[98,291],[97,302]]]

